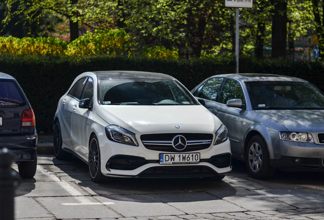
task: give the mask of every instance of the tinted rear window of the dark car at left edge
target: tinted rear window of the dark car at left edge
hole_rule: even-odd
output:
[[[25,103],[18,86],[12,80],[0,81],[0,107],[14,107]]]

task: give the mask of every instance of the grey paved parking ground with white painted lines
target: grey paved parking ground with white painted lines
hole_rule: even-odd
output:
[[[234,161],[222,181],[116,179],[97,184],[72,158],[38,157],[34,179],[16,190],[15,219],[324,219],[324,174],[251,178]],[[13,165],[17,170],[17,166]]]

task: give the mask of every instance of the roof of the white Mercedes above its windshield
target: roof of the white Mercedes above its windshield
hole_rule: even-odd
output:
[[[142,72],[142,71],[95,71],[94,73],[99,80],[103,79],[140,79],[140,78],[151,78],[151,79],[164,79],[174,80],[172,76],[163,73],[154,72]]]

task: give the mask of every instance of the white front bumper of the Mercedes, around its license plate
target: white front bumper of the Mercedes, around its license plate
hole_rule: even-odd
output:
[[[101,173],[110,177],[188,178],[226,175],[232,170],[228,140],[196,152],[200,153],[199,163],[160,164],[159,153],[163,152],[148,150],[141,144],[134,147],[110,142],[100,147]]]

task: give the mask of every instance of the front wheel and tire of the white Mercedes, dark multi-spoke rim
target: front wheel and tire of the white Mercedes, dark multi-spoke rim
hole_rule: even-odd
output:
[[[99,142],[96,135],[92,135],[90,138],[88,164],[90,177],[93,182],[99,183],[107,179],[101,173]]]

